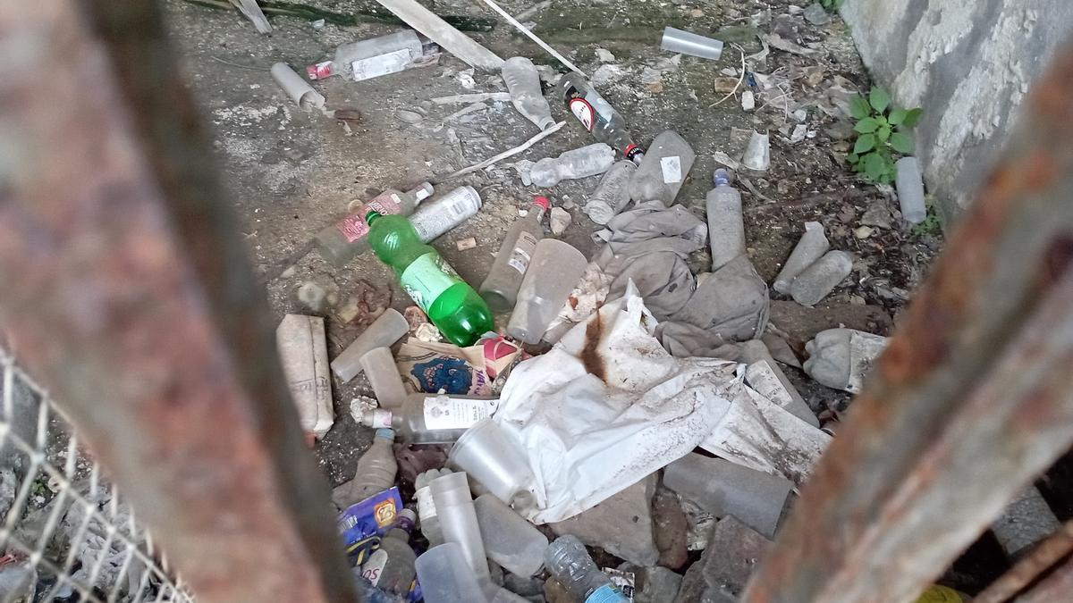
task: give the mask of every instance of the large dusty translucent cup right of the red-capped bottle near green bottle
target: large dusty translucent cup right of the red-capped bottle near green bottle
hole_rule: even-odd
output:
[[[518,302],[506,333],[519,341],[539,343],[587,265],[585,254],[569,244],[550,238],[538,242],[533,260],[521,279]]]

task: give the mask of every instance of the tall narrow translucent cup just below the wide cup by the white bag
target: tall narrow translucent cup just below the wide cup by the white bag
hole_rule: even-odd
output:
[[[488,582],[491,578],[488,572],[488,558],[485,555],[484,542],[481,540],[481,528],[476,523],[476,511],[466,473],[449,473],[437,477],[428,487],[432,490],[432,501],[436,502],[436,515],[440,518],[443,540],[457,543],[461,547],[462,556],[476,576],[477,583]]]

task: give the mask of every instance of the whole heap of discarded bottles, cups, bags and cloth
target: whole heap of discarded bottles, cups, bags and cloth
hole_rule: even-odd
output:
[[[441,50],[485,63],[487,50],[446,24],[396,12],[422,35],[348,44],[307,75],[362,80],[431,64]],[[663,47],[722,52],[674,28]],[[439,182],[384,191],[315,237],[334,265],[389,266],[414,306],[386,309],[330,362],[323,319],[288,314],[278,329],[311,439],[333,425],[329,371],[343,383],[364,373],[374,393],[351,406],[373,442],[333,492],[355,580],[368,601],[733,601],[832,438],[781,365],[855,393],[885,338],[824,330],[802,365],[769,329],[770,292],[747,253],[732,172],[768,168],[767,134],[717,156],[727,168],[712,174],[702,219],[676,203],[695,159],[682,135],[661,132],[643,148],[579,73],[545,91],[529,59],[494,69],[509,92],[491,94],[532,122],[533,138]],[[296,104],[324,111],[289,67],[273,75]],[[769,97],[765,86],[752,88]],[[756,100],[748,93],[745,111]],[[466,282],[429,244],[482,200],[444,183],[563,127],[594,142],[515,163],[523,183],[549,192],[519,208],[483,282]],[[554,189],[598,176],[583,210],[602,247],[586,258],[556,238],[570,215]],[[853,255],[829,249],[819,222],[803,231],[771,288],[811,307],[850,275]],[[711,266],[696,274],[689,259],[702,250]]]

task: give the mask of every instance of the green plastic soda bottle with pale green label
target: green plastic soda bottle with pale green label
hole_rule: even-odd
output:
[[[366,215],[369,246],[414,303],[455,345],[471,345],[495,328],[491,310],[402,216]]]

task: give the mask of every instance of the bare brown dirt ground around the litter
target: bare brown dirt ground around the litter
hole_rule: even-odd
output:
[[[312,3],[343,14],[368,5],[353,0]],[[426,4],[440,14],[495,17],[480,2]],[[517,14],[532,2],[511,0],[502,4]],[[473,73],[444,54],[439,64],[430,68],[362,83],[341,77],[315,83],[327,98],[328,108],[361,112],[361,121],[348,131],[341,121],[302,112],[276,86],[268,68],[284,61],[302,73],[305,65],[330,56],[339,44],[389,33],[399,26],[328,24],[317,29],[306,19],[275,17],[271,35],[259,35],[237,12],[183,0],[168,0],[165,8],[191,88],[215,133],[215,152],[240,217],[242,229],[235,236],[246,241],[277,319],[285,312],[319,313],[327,319],[329,357],[364,328],[338,318],[339,310],[352,299],[386,299],[389,295],[389,305],[396,309],[412,305],[388,270],[371,255],[335,268],[315,250],[304,253],[317,232],[346,215],[353,200],[423,180],[438,183],[440,193],[462,185],[476,188],[484,200],[480,214],[435,242],[473,284],[484,278],[518,209],[538,193],[548,195],[572,215],[573,222],[562,238],[587,256],[596,251],[590,234],[597,226],[580,206],[599,178],[536,190],[524,187],[510,166],[520,159],[556,156],[594,142],[562,103],[552,98],[550,86],[545,85],[545,91],[553,114],[567,121],[562,131],[496,167],[440,183],[443,176],[536,133],[510,103],[488,102],[481,111],[451,118],[466,105],[430,102],[451,94],[505,91],[498,74]],[[526,20],[533,21],[535,33],[593,76],[640,144],[644,146],[659,132],[674,129],[693,145],[696,162],[677,201],[701,216],[711,172],[717,167],[714,153],[734,155],[740,146],[739,136],[732,136],[733,129],[769,131],[771,168],[745,175],[739,182],[749,254],[760,275],[774,279],[809,220],[824,223],[833,249],[851,251],[857,258],[853,275],[825,302],[827,310],[799,319],[817,324],[779,326],[814,333],[851,323],[842,317],[852,313],[872,317],[852,326],[887,334],[890,319],[921,281],[941,239],[935,227],[911,229],[899,219],[897,202],[888,190],[863,183],[846,167],[842,156],[852,133],[848,121],[828,115],[834,107],[831,91],[838,87],[866,90],[869,80],[837,16],[829,25],[811,25],[799,9],[778,0],[554,0]],[[681,57],[675,64],[673,55],[659,48],[667,25],[726,41],[722,58]],[[720,104],[726,94],[715,90],[715,79],[730,77],[733,84],[740,75],[744,57],[763,49],[756,34],[770,32],[798,45],[813,44],[817,49],[813,56],[805,57],[770,48],[765,59],[750,60],[758,77],[771,76],[758,83],[758,111],[743,111],[740,94]],[[472,35],[501,57],[528,56],[538,64],[564,71],[505,24]],[[601,60],[598,48],[611,52],[614,58],[601,53]],[[721,73],[724,70],[736,70],[735,75]],[[764,82],[779,84],[789,97],[783,98],[778,89],[765,90]],[[807,134],[792,143],[791,133],[798,124],[793,113],[798,108],[805,111],[802,123]],[[400,111],[414,112],[422,119],[410,123],[400,118]],[[458,251],[456,241],[468,237],[476,239],[476,247]],[[709,264],[706,253],[691,260],[699,271]],[[317,311],[305,307],[297,296],[298,289],[310,282],[328,294],[325,307]],[[774,292],[773,296],[780,298]],[[843,394],[826,389],[794,369],[788,372],[814,410],[844,408]],[[354,462],[371,438],[371,430],[351,418],[349,402],[356,395],[370,395],[371,389],[364,377],[358,377],[347,384],[336,380],[333,391],[336,424],[317,452],[325,473],[333,484],[339,484],[353,476]]]

